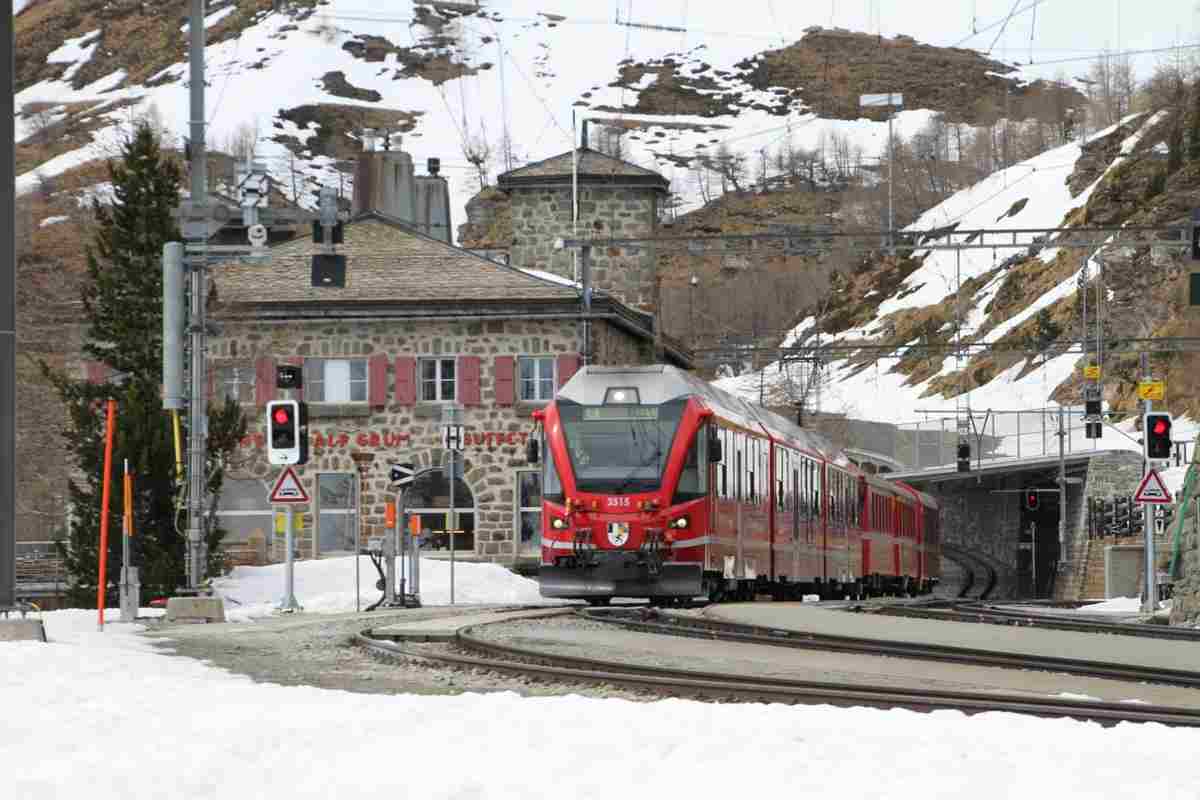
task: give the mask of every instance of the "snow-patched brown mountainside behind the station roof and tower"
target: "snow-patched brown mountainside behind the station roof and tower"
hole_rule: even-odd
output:
[[[1037,96],[1020,72],[971,50],[864,37],[870,47],[856,56],[847,53],[862,41],[848,31],[814,31],[804,47],[761,32],[768,18],[797,36],[824,19],[791,5],[768,16],[772,4],[691,2],[622,20],[618,4],[613,22],[582,6],[551,13],[539,0],[217,0],[206,18],[209,143],[228,151],[248,132],[283,193],[311,205],[319,184],[344,187],[361,128],[390,128],[416,164],[442,160],[457,224],[482,182],[570,149],[572,116],[618,120],[623,155],[664,172],[686,210],[702,200],[689,162],[721,145],[757,158],[785,139],[803,149],[835,138],[877,158],[887,125],[863,118],[858,92],[905,92],[895,125],[906,137],[935,112],[971,116],[967,101],[989,86],[1018,103]],[[121,126],[150,108],[186,134],[182,11],[25,5],[18,140],[59,142],[20,160],[19,191],[110,155]],[[760,32],[728,34],[748,28]]]

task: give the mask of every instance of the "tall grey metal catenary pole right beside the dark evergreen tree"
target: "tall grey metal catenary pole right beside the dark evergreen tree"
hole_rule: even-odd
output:
[[[191,128],[191,201],[194,209],[206,210],[208,206],[208,154],[205,152],[204,126],[204,0],[191,0],[191,18],[188,24],[188,62],[191,80],[190,128]],[[196,231],[200,233],[197,234]],[[190,239],[196,237],[197,245],[208,241],[206,224],[192,222]],[[190,332],[190,372],[191,391],[188,397],[188,504],[187,504],[187,557],[188,589],[198,590],[204,583],[204,506],[206,481],[204,480],[208,449],[208,378],[205,375],[204,350],[205,326],[208,325],[206,300],[208,254],[193,252],[188,259],[191,267],[188,307]]]

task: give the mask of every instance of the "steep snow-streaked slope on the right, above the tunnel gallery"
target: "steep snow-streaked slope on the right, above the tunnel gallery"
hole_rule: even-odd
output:
[[[1182,224],[1196,198],[1200,164],[1177,167],[1163,186],[1154,182],[1168,174],[1164,143],[1176,124],[1165,110],[1132,115],[1086,144],[1073,142],[1049,150],[955,193],[923,213],[910,230]],[[1019,349],[1030,348],[1039,337],[1061,341],[1080,336],[1080,289],[1086,288],[1092,297],[1088,302],[1094,302],[1097,259],[1086,258],[1087,253],[1079,248],[1036,241],[1033,234],[1020,234],[1014,240],[1024,246],[958,254],[918,247],[911,259],[888,259],[848,278],[826,312],[820,337],[818,320],[810,315],[782,341],[785,347],[817,342],[851,349],[884,347],[882,353],[864,349],[848,357],[834,357],[820,381],[821,410],[912,423],[938,416],[929,416],[925,410],[949,409],[953,414],[956,405],[974,409],[982,417],[984,409],[1081,403],[1080,366],[1087,357],[1078,350],[1044,347],[1040,353],[1026,355],[976,351],[958,360],[948,349],[935,354],[910,349],[917,344],[950,344],[960,313],[961,339],[973,344],[998,343]],[[1186,277],[1182,258],[1180,248],[1104,251],[1108,347],[1124,337],[1190,332],[1194,323],[1181,311]],[[1165,355],[1153,357],[1156,375],[1168,381],[1168,404],[1194,417],[1188,363]],[[1104,372],[1109,408],[1132,410],[1136,356],[1111,355]],[[790,404],[796,381],[794,366],[785,368],[772,362],[718,383],[748,398]],[[1031,422],[1032,417],[1026,425]],[[1190,429],[1190,423],[1181,426],[1177,438],[1189,435]],[[1090,449],[1093,443],[1082,440],[1076,445]],[[1109,437],[1104,446],[1136,444]]]

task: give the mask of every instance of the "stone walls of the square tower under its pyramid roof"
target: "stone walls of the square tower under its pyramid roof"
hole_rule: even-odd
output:
[[[571,251],[554,240],[572,236],[570,187],[520,187],[512,194],[512,264],[575,277]],[[653,188],[580,187],[580,236],[650,236],[658,227]],[[656,259],[653,247],[592,249],[592,282],[628,305],[654,308]]]

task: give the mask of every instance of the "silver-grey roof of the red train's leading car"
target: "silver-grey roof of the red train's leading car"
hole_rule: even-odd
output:
[[[791,447],[820,455],[839,467],[854,469],[853,463],[829,439],[806,431],[791,420],[768,409],[748,403],[722,391],[696,375],[670,365],[644,367],[587,366],[576,372],[559,390],[558,396],[581,405],[601,405],[605,392],[614,386],[637,389],[643,404],[660,404],[695,395],[714,414],[733,425],[762,431]]]

